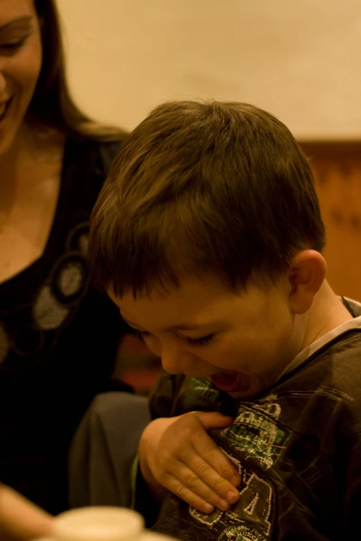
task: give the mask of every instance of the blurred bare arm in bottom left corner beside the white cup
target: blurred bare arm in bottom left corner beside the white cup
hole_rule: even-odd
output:
[[[26,541],[50,535],[53,517],[33,502],[0,484],[0,539]]]

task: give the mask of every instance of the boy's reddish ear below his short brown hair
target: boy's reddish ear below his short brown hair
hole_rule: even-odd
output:
[[[290,307],[295,314],[304,314],[313,303],[326,276],[326,260],[319,251],[302,250],[292,260],[290,282]]]

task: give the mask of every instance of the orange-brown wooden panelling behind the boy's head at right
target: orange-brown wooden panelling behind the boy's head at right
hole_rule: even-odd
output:
[[[301,143],[326,225],[328,281],[361,301],[361,142]]]

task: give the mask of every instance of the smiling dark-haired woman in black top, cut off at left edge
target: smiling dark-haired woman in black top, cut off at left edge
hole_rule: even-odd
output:
[[[73,104],[54,1],[0,0],[0,480],[50,513],[67,506],[77,424],[117,388],[124,323],[85,254],[123,137]]]

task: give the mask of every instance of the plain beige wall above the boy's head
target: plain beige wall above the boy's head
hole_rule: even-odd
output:
[[[165,99],[237,99],[301,138],[361,137],[360,0],[57,0],[71,88],[130,129]]]

